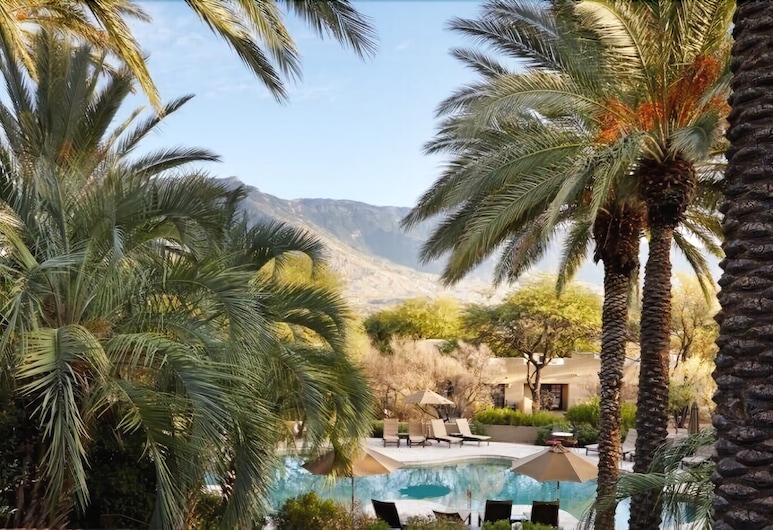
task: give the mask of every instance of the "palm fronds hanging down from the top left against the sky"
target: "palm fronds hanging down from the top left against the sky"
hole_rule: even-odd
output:
[[[300,77],[300,54],[285,27],[280,2],[186,0],[186,4],[228,43],[274,97],[280,101],[287,97],[285,78]],[[332,36],[359,56],[375,51],[375,35],[367,17],[358,13],[348,0],[281,4],[307,22],[320,37]],[[130,20],[151,21],[131,0],[6,0],[0,3],[0,38],[31,68],[34,56],[27,45],[35,25],[70,33],[120,59],[153,106],[161,110],[158,91],[140,44],[131,33]]]

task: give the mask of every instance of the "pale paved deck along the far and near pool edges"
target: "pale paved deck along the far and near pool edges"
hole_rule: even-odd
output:
[[[449,447],[447,443],[432,441],[427,446],[408,447],[405,441],[401,441],[400,446],[389,445],[384,447],[381,438],[369,438],[366,441],[367,447],[378,453],[384,454],[390,458],[401,462],[405,466],[416,466],[425,464],[444,464],[451,462],[464,462],[465,460],[480,460],[482,458],[503,458],[518,460],[537,453],[545,449],[543,446],[524,445],[505,442],[491,442],[490,444],[467,443],[461,446],[454,444]],[[575,453],[582,455],[591,462],[598,463],[598,454],[585,455],[585,449],[571,449]],[[631,471],[633,462],[621,461],[621,469]],[[445,506],[430,501],[400,499],[395,501],[397,511],[401,519],[416,515],[432,515],[432,510],[456,511],[463,516],[469,511],[461,510],[458,506]],[[363,506],[366,513],[373,514],[373,506],[370,504]],[[528,519],[531,514],[531,506],[514,505],[513,516],[521,516]],[[482,514],[481,514],[482,515]],[[472,523],[477,524],[478,515],[473,514]],[[560,510],[558,514],[559,524],[564,530],[573,530],[577,528],[579,521],[570,513]]]

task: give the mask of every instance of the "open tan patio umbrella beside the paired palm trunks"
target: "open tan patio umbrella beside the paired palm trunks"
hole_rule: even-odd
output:
[[[554,445],[544,451],[521,458],[510,471],[529,476],[540,482],[556,481],[556,497],[559,497],[561,481],[585,482],[596,478],[598,466],[590,460],[568,451],[563,445]]]

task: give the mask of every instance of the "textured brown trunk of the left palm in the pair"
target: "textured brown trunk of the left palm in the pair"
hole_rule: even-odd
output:
[[[631,275],[604,263],[604,309],[601,317],[601,418],[599,424],[599,478],[597,498],[614,494],[620,455],[620,387],[623,380]],[[594,528],[615,528],[614,506],[600,506]]]

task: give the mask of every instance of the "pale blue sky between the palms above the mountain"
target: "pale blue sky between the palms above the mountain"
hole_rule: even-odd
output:
[[[284,199],[351,199],[412,206],[439,174],[442,158],[422,154],[434,109],[474,79],[450,55],[468,44],[446,28],[474,17],[472,1],[359,1],[378,32],[375,57],[359,59],[302,22],[288,27],[303,56],[303,79],[278,104],[183,2],[144,2],[152,24],[136,27],[163,99],[196,94],[165,120],[153,146],[206,147],[238,176]],[[137,104],[142,103],[141,96]]]

